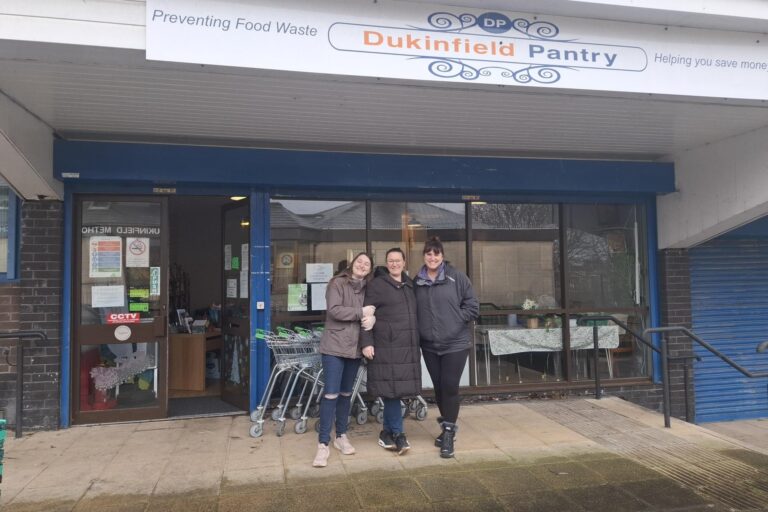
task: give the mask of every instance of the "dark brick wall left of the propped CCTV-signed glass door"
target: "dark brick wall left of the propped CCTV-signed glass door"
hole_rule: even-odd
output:
[[[43,331],[48,340],[29,340],[24,354],[23,426],[55,429],[59,424],[61,286],[63,272],[63,205],[58,201],[25,202],[21,209],[18,329]],[[4,293],[0,292],[0,296]],[[2,299],[0,299],[2,300]],[[1,302],[0,302],[1,303]],[[13,381],[0,396],[15,410]],[[12,405],[10,405],[12,404]],[[15,421],[15,419],[14,419]]]

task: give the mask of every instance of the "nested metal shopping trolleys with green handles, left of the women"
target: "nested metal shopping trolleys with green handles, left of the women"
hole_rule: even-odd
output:
[[[285,415],[289,411],[289,403],[294,396],[299,382],[303,383],[296,406],[291,409],[294,419],[303,419],[303,427],[296,425],[296,432],[306,431],[306,414],[309,410],[312,397],[317,393],[318,383],[322,375],[320,359],[320,335],[321,331],[310,331],[300,327],[294,330],[278,327],[276,332],[258,330],[256,338],[264,339],[275,357],[275,365],[269,375],[267,388],[259,402],[259,405],[251,412],[251,421],[254,425],[250,428],[252,437],[260,437],[264,433],[264,417],[269,406],[269,400],[275,387],[281,379],[284,381],[280,402],[272,410],[271,417],[277,422],[276,433],[282,436],[285,433]],[[308,389],[311,391],[306,404],[302,404]],[[300,417],[296,411],[303,411]]]

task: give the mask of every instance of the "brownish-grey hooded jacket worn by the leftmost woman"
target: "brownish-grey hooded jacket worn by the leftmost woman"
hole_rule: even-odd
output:
[[[356,359],[360,353],[360,319],[366,280],[355,280],[344,271],[331,279],[325,289],[325,328],[320,353]]]

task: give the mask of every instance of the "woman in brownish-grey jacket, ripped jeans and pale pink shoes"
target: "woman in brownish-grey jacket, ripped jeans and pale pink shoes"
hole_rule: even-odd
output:
[[[323,399],[320,402],[320,419],[317,454],[312,465],[323,468],[328,465],[331,441],[331,425],[336,423],[335,446],[344,455],[352,455],[355,448],[347,438],[349,409],[352,402],[352,385],[360,366],[360,327],[373,327],[372,306],[363,307],[365,285],[371,274],[373,262],[365,253],[355,256],[349,268],[331,279],[325,289],[328,310],[325,329],[320,338],[323,360]]]

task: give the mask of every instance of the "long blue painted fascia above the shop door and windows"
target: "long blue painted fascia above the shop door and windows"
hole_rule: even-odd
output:
[[[664,194],[666,162],[449,157],[132,144],[54,142],[54,173],[65,182],[242,184],[316,192],[455,194]]]

